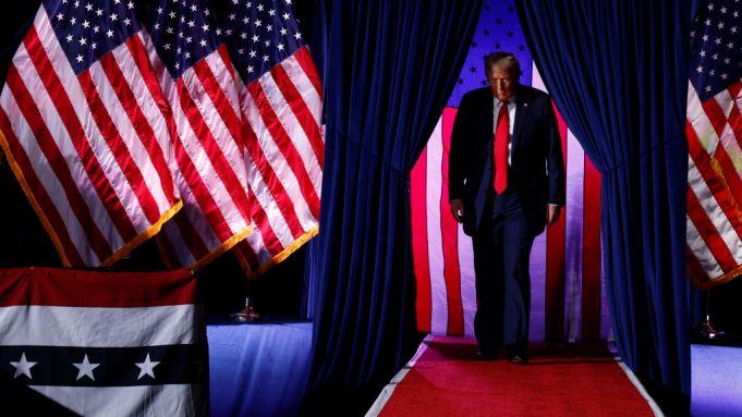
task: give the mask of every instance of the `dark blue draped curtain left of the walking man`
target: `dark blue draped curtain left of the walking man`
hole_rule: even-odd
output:
[[[365,412],[417,344],[409,173],[469,50],[481,0],[326,0],[313,389],[305,412]],[[316,27],[316,25],[314,26]]]

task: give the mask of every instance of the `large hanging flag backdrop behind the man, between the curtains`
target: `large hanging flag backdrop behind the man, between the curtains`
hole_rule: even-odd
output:
[[[484,56],[516,54],[521,83],[545,89],[512,4],[486,2],[448,108],[411,173],[417,327],[437,334],[474,334],[476,292],[471,238],[450,214],[448,151],[461,96],[487,85]],[[567,162],[567,206],[539,235],[531,256],[532,341],[607,339],[609,317],[600,252],[600,175],[560,121]]]

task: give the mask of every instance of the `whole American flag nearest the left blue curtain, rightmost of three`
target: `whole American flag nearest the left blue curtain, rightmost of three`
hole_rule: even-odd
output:
[[[260,273],[317,233],[325,155],[321,85],[291,0],[217,2],[245,119],[256,231],[234,248]]]

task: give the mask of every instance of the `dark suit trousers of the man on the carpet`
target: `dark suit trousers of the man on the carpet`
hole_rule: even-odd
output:
[[[530,231],[514,192],[487,197],[485,217],[473,236],[477,310],[474,332],[479,349],[508,346],[524,353],[531,310]]]

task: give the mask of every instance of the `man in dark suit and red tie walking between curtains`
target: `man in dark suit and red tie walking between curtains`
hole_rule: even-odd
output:
[[[461,99],[451,134],[451,213],[472,236],[481,359],[525,363],[533,241],[559,219],[564,161],[549,96],[519,84],[512,53],[485,57],[489,87]]]

